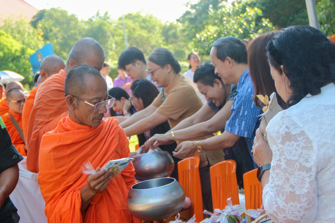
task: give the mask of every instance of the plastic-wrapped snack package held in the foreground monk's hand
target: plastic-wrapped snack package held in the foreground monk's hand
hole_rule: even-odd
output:
[[[121,173],[124,168],[126,168],[128,166],[128,164],[131,160],[133,160],[133,158],[123,158],[123,159],[110,160],[108,163],[106,163],[102,167],[102,169],[112,170],[111,179],[113,179],[119,173]],[[84,174],[95,174],[96,173],[95,169],[93,168],[93,166],[90,162],[84,164],[84,168],[83,168],[82,172]]]

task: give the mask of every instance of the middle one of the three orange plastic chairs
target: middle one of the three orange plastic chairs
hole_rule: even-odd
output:
[[[213,209],[224,209],[228,198],[231,198],[233,205],[240,204],[235,160],[216,163],[209,168],[209,172]]]

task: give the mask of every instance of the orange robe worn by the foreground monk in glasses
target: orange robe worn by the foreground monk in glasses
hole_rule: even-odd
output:
[[[109,160],[129,157],[129,142],[116,118],[103,120],[99,126],[80,125],[69,116],[55,130],[42,137],[38,180],[45,200],[49,223],[83,222],[80,190],[87,183],[83,163],[103,167]],[[111,179],[107,189],[90,202],[84,222],[140,222],[127,209],[127,196],[135,184],[130,163]]]

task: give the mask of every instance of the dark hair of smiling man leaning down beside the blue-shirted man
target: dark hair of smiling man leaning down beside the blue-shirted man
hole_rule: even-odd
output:
[[[215,68],[213,64],[209,61],[205,61],[199,65],[199,67],[195,70],[193,76],[193,82],[197,83],[198,81],[204,85],[208,85],[213,87],[214,81],[217,79],[222,82],[221,78],[215,74]],[[222,85],[223,82],[222,82]]]

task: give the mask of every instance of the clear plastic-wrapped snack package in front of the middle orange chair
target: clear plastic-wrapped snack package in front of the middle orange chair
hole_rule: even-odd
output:
[[[219,213],[217,223],[245,223],[244,212],[246,208],[242,205],[232,205],[231,198],[227,199],[227,206],[223,210],[215,209]]]

